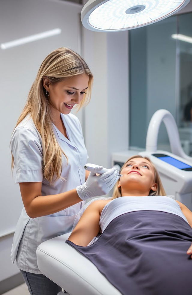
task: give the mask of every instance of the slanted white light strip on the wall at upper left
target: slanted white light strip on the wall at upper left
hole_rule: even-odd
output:
[[[43,33],[31,35],[29,37],[24,37],[24,38],[13,40],[13,41],[10,41],[10,42],[7,42],[7,43],[1,43],[0,47],[1,47],[1,49],[7,49],[7,48],[10,48],[10,47],[19,46],[19,45],[22,45],[22,44],[25,44],[25,43],[29,43],[29,42],[33,42],[33,41],[40,40],[40,39],[43,39],[43,38],[58,35],[60,33],[61,33],[61,29],[56,28],[56,29],[46,31],[46,32],[43,32]]]

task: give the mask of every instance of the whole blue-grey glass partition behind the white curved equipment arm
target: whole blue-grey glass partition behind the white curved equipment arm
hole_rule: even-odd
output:
[[[192,154],[192,43],[176,34],[192,37],[192,13],[130,31],[130,148],[145,149],[152,115],[167,109],[185,152]],[[158,149],[170,151],[164,124]]]

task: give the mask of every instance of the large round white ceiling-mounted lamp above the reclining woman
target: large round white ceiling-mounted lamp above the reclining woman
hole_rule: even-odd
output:
[[[92,31],[125,31],[158,22],[190,0],[88,0],[81,21]]]

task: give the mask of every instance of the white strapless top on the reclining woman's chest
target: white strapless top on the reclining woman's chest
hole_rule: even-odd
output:
[[[142,197],[119,197],[113,199],[101,212],[100,227],[103,232],[107,225],[116,217],[133,211],[150,210],[150,211],[164,211],[173,213],[182,217],[187,223],[187,219],[182,213],[179,204],[167,196],[142,196]]]

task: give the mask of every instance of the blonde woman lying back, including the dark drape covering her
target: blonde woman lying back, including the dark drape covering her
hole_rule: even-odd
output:
[[[166,196],[149,158],[120,173],[113,199],[92,202],[66,243],[123,295],[191,295],[192,212]]]

